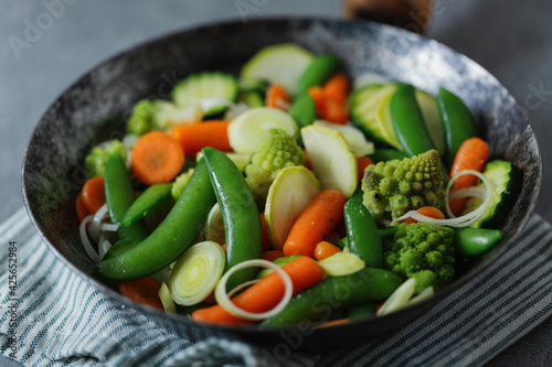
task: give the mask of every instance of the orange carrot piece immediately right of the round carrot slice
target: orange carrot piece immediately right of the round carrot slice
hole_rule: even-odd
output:
[[[232,151],[229,141],[230,121],[216,120],[201,123],[177,125],[170,131],[187,155],[195,154],[205,147],[223,152]]]

